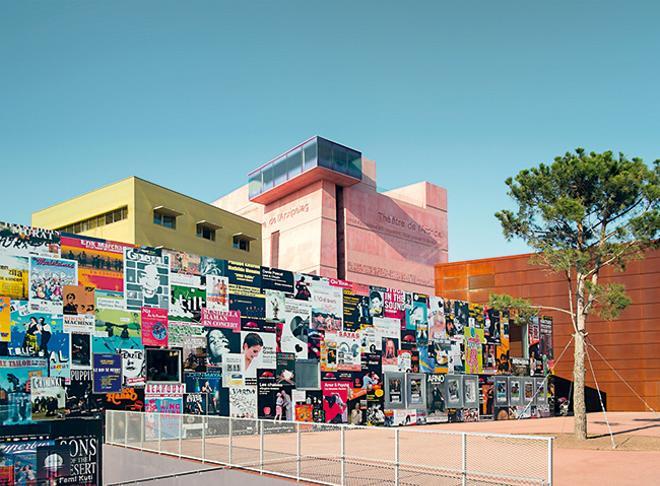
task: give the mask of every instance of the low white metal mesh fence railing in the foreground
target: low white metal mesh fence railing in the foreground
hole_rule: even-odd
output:
[[[327,485],[551,485],[552,438],[108,410],[106,443]]]

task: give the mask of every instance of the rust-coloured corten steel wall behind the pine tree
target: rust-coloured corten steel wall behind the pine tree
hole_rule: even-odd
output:
[[[559,274],[530,265],[531,255],[514,255],[454,263],[435,267],[436,294],[446,298],[486,303],[490,293],[507,293],[530,299],[538,305],[565,308],[566,283]],[[644,260],[628,264],[624,273],[603,272],[602,282],[626,286],[632,304],[614,321],[591,315],[587,323],[594,346],[630,385],[660,410],[660,251],[649,252]],[[555,358],[571,338],[567,315],[547,311],[554,318]],[[609,410],[644,410],[644,404],[624,385],[607,364],[591,352],[596,379],[607,393]],[[587,363],[588,366],[588,363]],[[572,380],[573,347],[555,366],[558,376]],[[587,369],[587,385],[593,387]]]

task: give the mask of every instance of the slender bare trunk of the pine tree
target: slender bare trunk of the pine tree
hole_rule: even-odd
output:
[[[584,283],[578,278],[575,353],[573,356],[573,414],[574,433],[577,440],[587,439],[587,407],[584,402],[584,352],[585,352],[585,324],[584,310]]]

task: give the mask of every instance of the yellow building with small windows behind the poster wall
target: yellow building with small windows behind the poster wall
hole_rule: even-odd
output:
[[[32,213],[32,226],[261,264],[261,225],[138,177]]]

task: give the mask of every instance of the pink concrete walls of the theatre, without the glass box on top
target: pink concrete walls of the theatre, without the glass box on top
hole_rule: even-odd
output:
[[[347,280],[434,293],[434,265],[447,261],[447,192],[428,182],[378,193],[376,165],[363,159],[364,181],[344,188]],[[319,181],[267,205],[247,186],[213,203],[262,223],[263,264],[279,231],[280,268],[337,277],[335,185]]]

